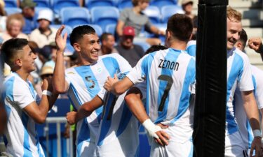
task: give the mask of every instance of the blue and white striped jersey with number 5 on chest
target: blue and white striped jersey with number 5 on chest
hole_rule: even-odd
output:
[[[67,91],[74,107],[79,107],[94,98],[103,88],[107,77],[114,77],[116,73],[130,71],[130,64],[119,54],[107,54],[98,59],[96,63],[88,66],[78,66],[66,70],[66,81],[69,84]],[[82,142],[95,143],[100,125],[102,107],[95,110],[88,118],[78,122],[77,152],[81,154]]]

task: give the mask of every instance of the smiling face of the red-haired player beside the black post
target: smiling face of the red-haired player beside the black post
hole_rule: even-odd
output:
[[[231,50],[234,47],[235,43],[240,38],[241,31],[241,22],[236,22],[236,20],[229,20],[229,18],[227,18],[227,50]]]

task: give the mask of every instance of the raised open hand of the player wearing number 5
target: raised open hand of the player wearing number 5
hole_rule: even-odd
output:
[[[57,45],[58,52],[64,52],[67,44],[67,33],[62,37],[62,31],[65,29],[65,25],[62,25],[55,34],[55,44]]]

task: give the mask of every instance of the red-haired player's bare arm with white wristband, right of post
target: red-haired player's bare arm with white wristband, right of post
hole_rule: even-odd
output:
[[[242,97],[244,101],[244,109],[247,117],[250,121],[250,126],[254,133],[254,140],[251,144],[250,156],[252,156],[255,149],[256,156],[259,156],[261,151],[261,132],[259,126],[259,112],[257,109],[257,103],[252,91],[242,91]],[[259,135],[258,135],[259,134]]]

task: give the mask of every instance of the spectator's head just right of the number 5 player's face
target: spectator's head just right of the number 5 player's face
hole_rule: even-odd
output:
[[[118,52],[115,48],[115,38],[112,33],[102,33],[100,37],[100,42],[102,43],[101,49],[99,51],[99,55],[102,56],[104,54],[111,54]]]

